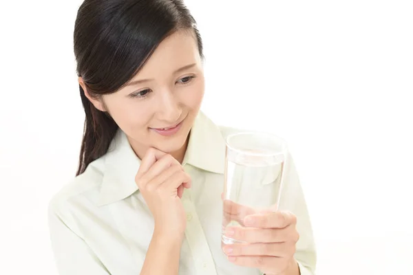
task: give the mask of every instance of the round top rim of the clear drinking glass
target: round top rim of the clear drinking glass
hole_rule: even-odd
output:
[[[240,135],[261,135],[261,136],[267,136],[267,137],[274,138],[274,139],[277,140],[277,142],[280,143],[281,150],[279,151],[279,153],[251,153],[251,152],[239,149],[239,148],[235,148],[234,146],[231,146],[230,140],[233,137],[237,137],[237,136],[240,136]],[[279,137],[279,135],[275,135],[273,133],[260,132],[260,131],[243,131],[243,132],[240,132],[240,133],[232,133],[232,134],[226,136],[225,144],[226,144],[226,148],[229,148],[231,151],[234,151],[234,152],[237,152],[237,153],[242,153],[244,155],[256,156],[256,157],[273,157],[275,155],[284,155],[285,156],[287,148],[288,148],[287,142],[286,142],[286,140],[284,140],[284,138]]]

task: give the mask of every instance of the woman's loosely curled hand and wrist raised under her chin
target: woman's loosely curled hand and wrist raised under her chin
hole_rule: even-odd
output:
[[[184,188],[191,187],[191,177],[181,164],[171,155],[149,148],[135,181],[155,220],[154,234],[182,238],[187,220],[180,197]]]

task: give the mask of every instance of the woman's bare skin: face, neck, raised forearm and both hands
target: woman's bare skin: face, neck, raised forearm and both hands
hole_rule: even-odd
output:
[[[183,188],[191,186],[180,163],[204,96],[202,59],[193,34],[176,32],[162,41],[140,72],[114,94],[94,98],[82,78],[78,81],[92,104],[112,116],[142,159],[135,180],[155,219],[155,231],[141,274],[178,274],[186,226],[180,197]],[[174,135],[165,137],[153,131],[181,121],[180,131]],[[229,261],[257,267],[266,274],[298,275],[293,256],[298,240],[295,216],[237,207],[242,206],[230,206],[227,211],[244,211],[255,219],[253,223],[245,221],[245,228],[229,228],[226,232],[248,241],[246,245],[223,248]]]

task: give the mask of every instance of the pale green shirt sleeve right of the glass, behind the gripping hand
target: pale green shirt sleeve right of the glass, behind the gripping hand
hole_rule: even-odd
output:
[[[313,228],[308,213],[304,192],[299,182],[293,157],[288,153],[284,164],[279,210],[288,210],[297,217],[299,241],[296,245],[295,259],[299,264],[301,275],[314,275],[317,253],[313,236]]]

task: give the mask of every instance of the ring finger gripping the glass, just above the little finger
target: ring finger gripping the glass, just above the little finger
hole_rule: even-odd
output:
[[[295,245],[290,243],[235,243],[226,245],[223,251],[228,256],[277,256],[289,258],[295,254]]]

